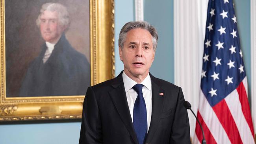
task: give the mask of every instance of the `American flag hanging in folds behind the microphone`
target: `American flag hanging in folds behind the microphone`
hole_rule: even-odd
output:
[[[232,0],[209,0],[197,116],[207,144],[254,144],[247,77]],[[202,141],[196,124],[194,143]]]

